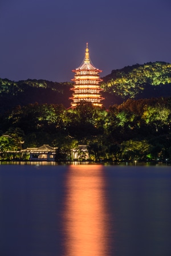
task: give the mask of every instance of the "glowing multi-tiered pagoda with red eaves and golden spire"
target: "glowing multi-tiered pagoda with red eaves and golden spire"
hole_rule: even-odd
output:
[[[83,101],[91,102],[93,105],[101,107],[100,101],[104,98],[100,95],[102,89],[99,86],[99,82],[102,80],[99,78],[99,72],[102,71],[93,66],[89,58],[88,43],[82,64],[72,72],[75,72],[74,79],[71,79],[75,82],[74,87],[71,88],[74,91],[70,98],[73,100],[72,107],[76,107],[77,104]]]

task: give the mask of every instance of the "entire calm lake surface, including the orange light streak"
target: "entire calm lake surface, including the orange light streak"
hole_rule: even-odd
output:
[[[170,256],[171,167],[0,165],[1,256]]]

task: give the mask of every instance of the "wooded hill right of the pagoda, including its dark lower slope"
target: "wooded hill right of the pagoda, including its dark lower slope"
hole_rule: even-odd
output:
[[[171,64],[149,62],[112,70],[103,78],[105,105],[123,100],[171,96]]]

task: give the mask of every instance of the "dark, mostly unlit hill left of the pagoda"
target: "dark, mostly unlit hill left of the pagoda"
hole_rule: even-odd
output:
[[[21,80],[14,82],[0,79],[0,109],[6,111],[15,105],[63,104],[70,107],[68,97],[71,96],[72,83],[57,83],[47,80]]]

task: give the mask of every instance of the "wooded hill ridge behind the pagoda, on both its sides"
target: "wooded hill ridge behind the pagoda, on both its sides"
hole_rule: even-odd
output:
[[[58,83],[47,80],[21,80],[14,82],[0,79],[0,111],[4,112],[15,105],[63,104],[71,106],[72,83]],[[101,87],[106,108],[131,99],[171,96],[171,64],[149,62],[112,70],[103,78]]]

